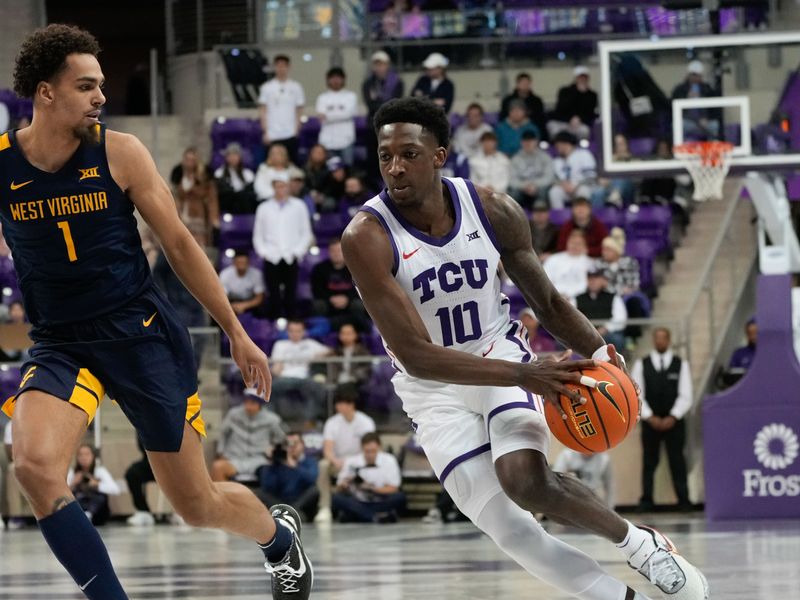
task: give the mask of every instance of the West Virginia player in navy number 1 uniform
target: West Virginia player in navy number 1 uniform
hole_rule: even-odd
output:
[[[313,575],[297,513],[279,505],[270,514],[247,488],[211,482],[189,335],[152,284],[134,209],[230,337],[247,385],[265,395],[266,356],[239,324],[147,150],[100,123],[99,51],[74,27],[31,34],[14,87],[33,99],[33,122],[0,135],[0,219],[35,342],[19,390],[3,405],[13,418],[17,478],[53,554],[86,597],[127,598],[66,484],[107,393],[136,427],[161,489],[187,523],[253,539],[272,574],[272,597],[306,599]]]

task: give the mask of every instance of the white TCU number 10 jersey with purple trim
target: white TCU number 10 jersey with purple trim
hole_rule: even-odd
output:
[[[500,248],[472,182],[447,177],[442,181],[455,211],[453,229],[442,238],[416,229],[385,190],[361,210],[377,217],[386,230],[395,278],[433,343],[482,355],[509,328],[509,303],[497,274]],[[392,349],[386,349],[402,371]]]

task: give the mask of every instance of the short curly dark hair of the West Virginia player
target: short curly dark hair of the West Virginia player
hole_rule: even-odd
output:
[[[54,23],[37,29],[22,42],[14,66],[14,91],[33,98],[42,81],[52,81],[67,68],[70,54],[100,53],[100,44],[88,31]]]

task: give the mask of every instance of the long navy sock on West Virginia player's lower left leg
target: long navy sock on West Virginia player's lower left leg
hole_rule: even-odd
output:
[[[100,534],[77,502],[39,521],[50,550],[90,600],[128,600]]]

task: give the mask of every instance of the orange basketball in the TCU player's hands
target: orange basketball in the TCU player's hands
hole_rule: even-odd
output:
[[[567,413],[564,420],[554,404],[545,402],[547,424],[558,441],[568,448],[584,454],[610,450],[636,425],[639,415],[636,388],[625,373],[610,363],[604,362],[580,373],[595,379],[597,388],[568,384],[567,387],[580,390],[586,404],[559,395],[561,407]]]

